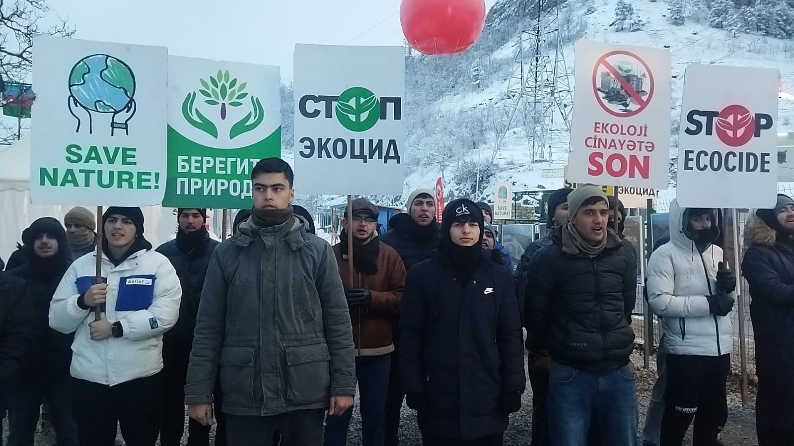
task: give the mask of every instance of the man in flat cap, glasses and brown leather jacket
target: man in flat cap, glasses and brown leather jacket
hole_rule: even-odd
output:
[[[356,345],[356,376],[360,390],[361,440],[364,446],[384,444],[384,419],[391,352],[394,352],[391,321],[399,313],[405,286],[405,267],[399,254],[379,240],[378,208],[366,198],[353,200],[353,219],[342,220],[339,243],[333,253],[345,285],[345,297],[353,321]],[[348,237],[353,237],[353,282],[350,282]],[[326,446],[347,444],[353,408],[341,417],[328,417]]]

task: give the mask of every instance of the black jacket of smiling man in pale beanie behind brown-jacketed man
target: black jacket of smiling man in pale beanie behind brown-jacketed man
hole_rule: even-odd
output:
[[[397,250],[408,271],[416,263],[433,258],[441,241],[441,225],[433,221],[421,227],[407,213],[398,213],[389,220],[389,230],[380,241]]]

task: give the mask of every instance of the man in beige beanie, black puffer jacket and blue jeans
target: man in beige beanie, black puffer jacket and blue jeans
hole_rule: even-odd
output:
[[[634,446],[638,405],[629,356],[637,266],[607,227],[609,205],[599,187],[577,187],[568,204],[569,222],[530,260],[525,290],[527,349],[536,361],[552,361],[551,443],[587,444],[597,422],[600,444]]]

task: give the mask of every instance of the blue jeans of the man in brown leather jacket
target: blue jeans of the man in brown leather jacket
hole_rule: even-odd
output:
[[[384,444],[386,395],[389,388],[390,369],[391,355],[356,357],[363,446],[383,446]],[[353,417],[353,407],[338,417],[326,417],[326,446],[345,446],[347,444],[350,417]]]

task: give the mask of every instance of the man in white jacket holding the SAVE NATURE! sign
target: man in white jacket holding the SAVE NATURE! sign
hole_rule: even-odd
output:
[[[82,446],[154,446],[160,433],[163,333],[179,316],[182,287],[165,256],[144,238],[141,208],[102,216],[102,281],[96,256],[71,264],[49,308],[49,325],[75,333],[71,349],[75,417]],[[94,320],[99,307],[102,318]]]

